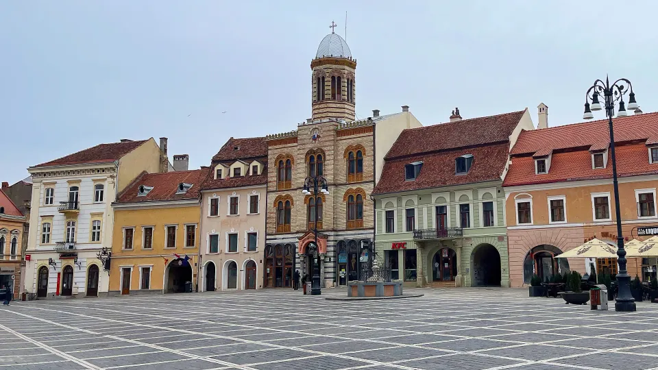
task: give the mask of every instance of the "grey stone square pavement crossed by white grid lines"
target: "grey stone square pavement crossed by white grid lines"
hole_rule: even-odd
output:
[[[658,305],[592,311],[522,289],[327,301],[269,290],[14,302],[0,370],[658,370]]]

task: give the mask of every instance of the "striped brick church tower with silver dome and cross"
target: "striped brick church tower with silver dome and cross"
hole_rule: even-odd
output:
[[[329,26],[331,33],[320,42],[315,59],[310,62],[313,71],[311,84],[313,121],[334,119],[354,121],[354,73],[356,60],[348,43],[334,33],[335,23]]]

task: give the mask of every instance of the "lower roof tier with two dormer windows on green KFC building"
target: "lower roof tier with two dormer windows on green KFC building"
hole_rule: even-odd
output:
[[[412,145],[409,145],[410,147]],[[432,154],[419,154],[407,158],[387,160],[382,177],[373,190],[374,195],[400,191],[437,188],[459,184],[472,184],[500,180],[507,162],[509,143],[486,145],[470,149],[456,149]],[[455,159],[472,154],[473,164],[465,175],[454,173]],[[422,160],[423,167],[415,181],[404,180],[404,165]]]

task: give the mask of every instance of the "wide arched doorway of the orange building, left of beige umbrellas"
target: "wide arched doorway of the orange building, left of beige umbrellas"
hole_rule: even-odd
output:
[[[561,253],[558,247],[548,244],[537,245],[528,251],[523,260],[523,282],[530,284],[535,273],[541,277],[542,282],[545,282],[552,275],[570,271],[569,261],[566,258],[555,258]]]

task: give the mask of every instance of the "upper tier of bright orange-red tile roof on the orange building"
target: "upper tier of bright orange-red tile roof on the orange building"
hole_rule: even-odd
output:
[[[613,120],[615,143],[632,140],[658,140],[658,112],[616,118]],[[568,149],[594,146],[605,149],[610,140],[608,121],[592,121],[572,125],[524,131],[520,134],[511,155],[535,153],[546,149]]]

